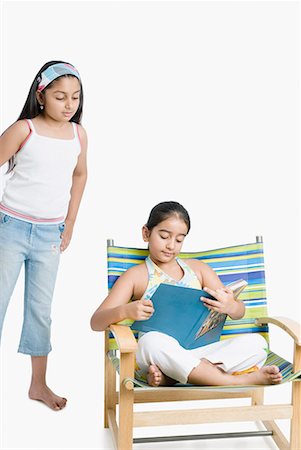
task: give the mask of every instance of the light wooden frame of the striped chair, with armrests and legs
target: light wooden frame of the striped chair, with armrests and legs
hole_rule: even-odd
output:
[[[273,324],[288,333],[294,341],[293,372],[301,370],[301,330],[295,321],[283,317],[263,317],[258,325]],[[109,333],[112,332],[120,352],[118,389],[116,370],[109,352]],[[122,325],[111,325],[105,332],[105,405],[104,426],[110,428],[115,448],[131,450],[133,443],[167,440],[194,440],[219,437],[246,437],[270,435],[280,450],[301,450],[301,381],[292,382],[291,403],[265,405],[264,387],[231,391],[206,391],[195,388],[158,387],[135,388],[128,378],[134,378],[137,342],[131,329]],[[277,389],[270,387],[269,389]],[[135,403],[173,402],[189,400],[250,398],[249,406],[219,407],[203,409],[134,411]],[[117,418],[117,405],[119,414]],[[118,419],[118,420],[117,420]],[[290,441],[286,439],[276,419],[290,419]],[[168,436],[133,439],[134,427],[201,424],[213,422],[261,421],[265,431],[219,433],[212,435]]]

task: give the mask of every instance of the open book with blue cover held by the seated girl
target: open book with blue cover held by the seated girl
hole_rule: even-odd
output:
[[[228,287],[237,298],[247,284],[245,280],[237,280]],[[227,315],[210,311],[200,297],[214,300],[201,289],[161,283],[151,298],[154,314],[148,320],[135,321],[131,328],[168,334],[186,349],[219,341]]]

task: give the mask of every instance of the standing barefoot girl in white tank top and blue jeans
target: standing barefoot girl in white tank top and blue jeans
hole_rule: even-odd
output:
[[[60,253],[69,245],[84,191],[87,136],[80,125],[80,75],[63,61],[37,73],[24,108],[0,137],[8,179],[0,203],[0,336],[7,306],[25,266],[19,352],[31,355],[31,399],[54,410],[66,399],[46,384],[51,302]]]

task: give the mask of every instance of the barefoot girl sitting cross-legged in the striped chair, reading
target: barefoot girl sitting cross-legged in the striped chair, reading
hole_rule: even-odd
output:
[[[243,317],[243,302],[235,300],[231,289],[222,284],[207,264],[178,258],[189,229],[189,215],[179,203],[163,202],[152,209],[142,228],[149,256],[145,264],[134,266],[119,277],[91,319],[93,330],[105,330],[108,325],[127,318],[149,319],[154,312],[150,298],[160,283],[203,288],[216,299],[200,298],[209,310],[228,314],[234,320]],[[136,359],[140,375],[152,386],[175,382],[196,385],[279,383],[278,367],[264,366],[266,346],[262,336],[248,334],[186,350],[173,337],[150,331],[140,334]]]

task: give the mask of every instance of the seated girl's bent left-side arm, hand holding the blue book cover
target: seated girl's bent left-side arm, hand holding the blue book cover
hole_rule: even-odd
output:
[[[91,318],[92,330],[103,331],[112,323],[124,319],[146,320],[153,314],[151,300],[142,298],[129,303],[134,295],[135,285],[141,279],[141,270],[137,269],[128,269],[115,282],[109,295]]]

